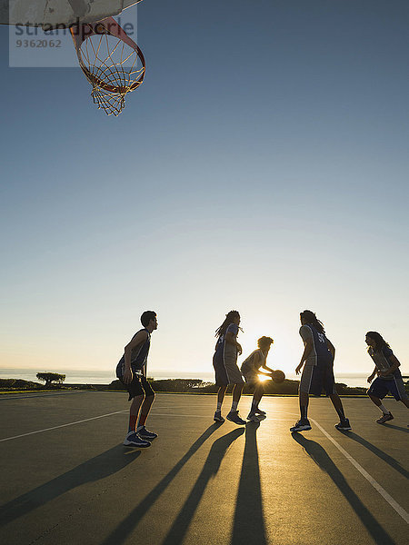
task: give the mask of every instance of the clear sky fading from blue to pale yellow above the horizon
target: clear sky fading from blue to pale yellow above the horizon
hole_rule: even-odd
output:
[[[109,370],[158,312],[150,369],[212,370],[214,330],[274,338],[299,312],[336,372],[364,333],[409,372],[406,0],[138,6],[147,71],[115,118],[79,69],[10,69],[2,45],[3,367]]]

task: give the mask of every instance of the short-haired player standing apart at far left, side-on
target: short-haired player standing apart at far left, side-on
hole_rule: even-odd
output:
[[[157,437],[156,433],[145,428],[145,421],[155,400],[155,392],[146,380],[146,364],[151,333],[157,329],[156,312],[145,311],[141,316],[141,323],[144,329],[136,332],[125,346],[125,353],[116,366],[116,376],[125,384],[129,393],[128,401],[132,400],[124,445],[145,448],[150,447],[150,441]]]

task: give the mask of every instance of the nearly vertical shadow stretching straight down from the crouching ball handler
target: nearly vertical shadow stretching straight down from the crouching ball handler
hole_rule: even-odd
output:
[[[242,472],[235,503],[232,545],[267,545],[265,535],[263,498],[258,464],[256,431],[260,422],[245,426],[245,445]]]

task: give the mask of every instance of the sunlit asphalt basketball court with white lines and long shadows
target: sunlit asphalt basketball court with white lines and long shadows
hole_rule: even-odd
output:
[[[291,434],[294,397],[266,397],[268,417],[213,423],[214,395],[156,396],[145,451],[122,445],[127,394],[6,394],[0,540],[5,544],[405,545],[409,429],[404,405],[374,422],[344,398],[353,431],[313,398],[313,430]],[[224,402],[224,414],[231,397]],[[251,397],[242,398],[246,416]]]

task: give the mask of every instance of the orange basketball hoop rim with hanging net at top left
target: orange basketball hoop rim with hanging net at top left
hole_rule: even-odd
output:
[[[98,108],[121,114],[125,96],[144,81],[145,58],[113,17],[70,28],[78,61]]]

